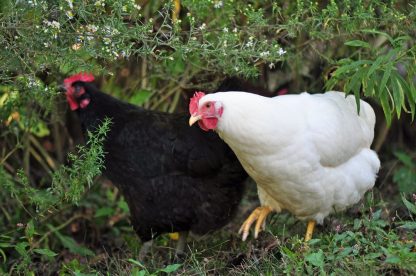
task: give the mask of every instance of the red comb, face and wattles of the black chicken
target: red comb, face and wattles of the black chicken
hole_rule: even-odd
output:
[[[76,84],[93,81],[94,76],[91,73],[79,73],[64,80],[66,99],[71,110],[85,108],[90,103],[90,99],[88,97],[82,97],[85,94],[85,88],[82,85]]]

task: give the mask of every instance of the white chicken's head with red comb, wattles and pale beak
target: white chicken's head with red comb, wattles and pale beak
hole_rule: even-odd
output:
[[[205,130],[213,130],[217,127],[218,119],[221,117],[223,107],[221,103],[203,100],[205,93],[195,92],[189,103],[189,125],[198,122],[199,126]]]

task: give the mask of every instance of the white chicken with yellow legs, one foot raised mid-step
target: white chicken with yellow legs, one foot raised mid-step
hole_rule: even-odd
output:
[[[357,203],[374,186],[380,160],[370,149],[375,114],[342,92],[266,98],[245,92],[195,93],[189,124],[215,130],[257,183],[261,206],[243,223],[245,240],[270,212],[315,223]]]

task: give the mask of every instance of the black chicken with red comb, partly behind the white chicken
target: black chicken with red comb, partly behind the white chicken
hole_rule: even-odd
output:
[[[83,132],[112,120],[104,144],[104,176],[124,195],[131,222],[144,243],[143,259],[156,236],[180,232],[176,253],[189,231],[204,235],[230,221],[247,174],[214,132],[189,127],[187,114],[146,110],[100,92],[91,74],[65,79],[71,110]]]

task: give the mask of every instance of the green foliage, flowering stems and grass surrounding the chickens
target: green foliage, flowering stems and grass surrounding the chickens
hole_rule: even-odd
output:
[[[183,0],[177,20],[173,6],[0,2],[0,271],[414,272],[415,3]],[[251,185],[241,218],[192,241],[182,266],[166,267],[166,237],[143,266],[126,203],[98,177],[110,124],[81,146],[76,116],[58,92],[63,78],[80,71],[101,76],[101,88],[115,97],[167,112],[220,83],[266,95],[334,88],[366,97],[377,112],[377,188],[334,216],[305,251],[302,225],[285,214],[259,241],[237,241],[233,232],[256,205]]]

